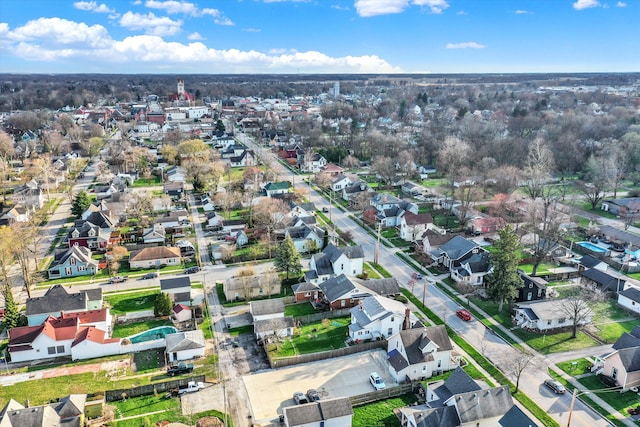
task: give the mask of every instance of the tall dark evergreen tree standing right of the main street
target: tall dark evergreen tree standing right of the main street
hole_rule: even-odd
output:
[[[489,275],[489,296],[499,301],[498,311],[502,311],[505,301],[510,302],[518,295],[522,279],[518,275],[520,239],[510,225],[500,230],[500,238],[494,243],[491,254],[493,271]]]

